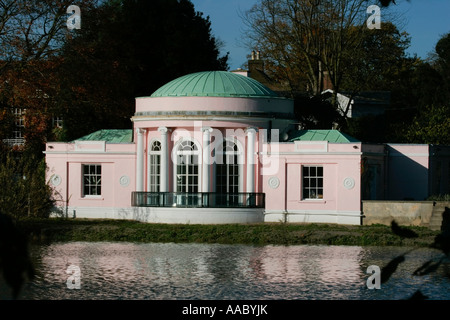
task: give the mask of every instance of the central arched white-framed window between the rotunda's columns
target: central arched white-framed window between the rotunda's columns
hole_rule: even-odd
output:
[[[192,140],[183,140],[176,149],[176,191],[199,192],[200,150]]]

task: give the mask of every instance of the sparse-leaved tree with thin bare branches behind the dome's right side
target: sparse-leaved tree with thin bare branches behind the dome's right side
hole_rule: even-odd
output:
[[[319,95],[326,76],[336,105],[342,84],[349,83],[347,78],[356,75],[355,66],[361,65],[355,60],[367,56],[361,52],[367,33],[373,31],[366,23],[372,4],[368,0],[260,0],[244,15],[247,45],[262,52],[267,72],[293,94]],[[367,74],[358,81],[370,81]],[[351,89],[356,94],[360,88]],[[348,109],[349,105],[344,116]]]

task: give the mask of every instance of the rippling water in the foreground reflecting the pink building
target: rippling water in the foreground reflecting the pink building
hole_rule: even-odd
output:
[[[368,289],[369,266],[382,268],[408,250],[309,245],[56,243],[32,248],[37,275],[20,298],[397,300],[409,298],[420,289],[430,299],[449,299],[448,260],[435,273],[412,275],[425,261],[441,257],[439,251],[432,249],[408,253],[387,283],[380,289]],[[8,298],[5,291],[3,284],[0,298]]]

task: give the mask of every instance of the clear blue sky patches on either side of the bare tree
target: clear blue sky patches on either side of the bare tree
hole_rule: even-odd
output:
[[[230,69],[241,67],[247,60],[249,49],[242,44],[245,26],[240,12],[250,9],[257,0],[191,1],[197,11],[210,17],[214,36],[224,42],[222,51],[230,52]],[[378,3],[376,0],[373,2]],[[401,12],[401,30],[411,37],[407,52],[426,58],[441,36],[450,32],[450,0],[396,0],[396,3],[389,10]]]

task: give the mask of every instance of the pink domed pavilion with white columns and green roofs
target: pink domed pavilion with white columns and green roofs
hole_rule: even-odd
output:
[[[133,130],[47,143],[49,180],[69,216],[360,224],[362,190],[376,198],[385,184],[386,146],[293,130],[293,112],[252,78],[186,75],[136,99]]]

